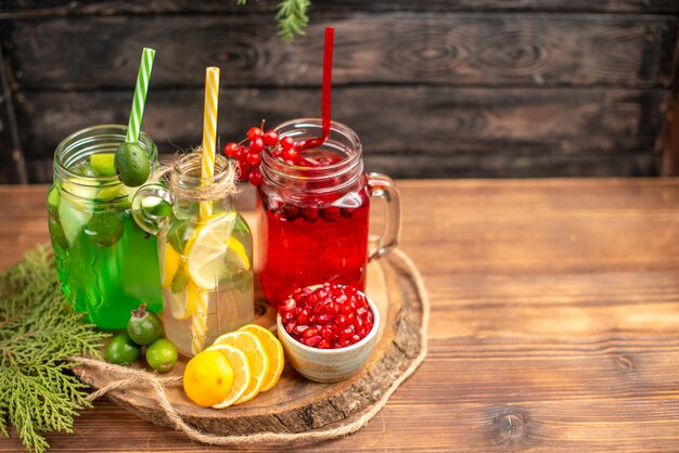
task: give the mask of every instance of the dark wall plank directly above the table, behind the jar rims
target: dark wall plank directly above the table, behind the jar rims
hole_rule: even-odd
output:
[[[395,177],[652,176],[662,90],[346,87],[333,116],[361,138],[367,168]],[[318,116],[317,89],[222,89],[218,134]],[[31,181],[51,180],[59,142],[92,124],[125,124],[129,92],[16,96]],[[200,143],[201,90],[149,92],[143,129],[162,153]],[[397,126],[395,126],[397,125]]]

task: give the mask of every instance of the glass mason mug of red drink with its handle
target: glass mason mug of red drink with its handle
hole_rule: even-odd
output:
[[[295,142],[321,137],[320,119],[293,119],[276,128]],[[400,234],[400,196],[390,178],[363,173],[361,142],[332,122],[322,146],[303,152],[319,166],[295,166],[261,154],[258,190],[259,262],[264,294],[277,307],[298,287],[322,282],[366,286],[370,260],[388,254]],[[386,200],[384,233],[368,249],[370,198]]]

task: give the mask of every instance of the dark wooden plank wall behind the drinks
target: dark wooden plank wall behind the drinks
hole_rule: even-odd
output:
[[[262,117],[318,116],[325,25],[336,27],[333,116],[359,133],[370,170],[676,172],[665,115],[678,0],[312,0],[307,35],[289,46],[277,2],[249,3],[0,0],[11,92],[0,182],[49,181],[62,138],[126,122],[144,46],[157,54],[143,129],[163,152],[200,142],[208,65],[221,67],[222,142]]]

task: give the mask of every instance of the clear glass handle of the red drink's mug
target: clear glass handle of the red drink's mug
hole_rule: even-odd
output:
[[[377,248],[368,258],[369,261],[380,259],[398,245],[401,232],[401,198],[394,185],[394,180],[382,173],[368,173],[368,195],[383,198],[386,202],[386,223],[380,236]]]

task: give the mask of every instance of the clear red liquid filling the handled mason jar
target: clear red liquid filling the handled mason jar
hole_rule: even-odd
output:
[[[370,200],[361,177],[353,187],[299,200],[260,191],[257,198],[261,286],[273,307],[322,282],[363,290]]]

